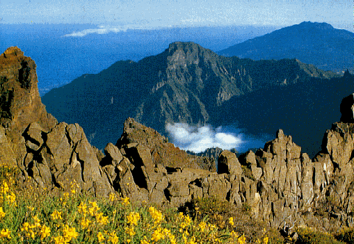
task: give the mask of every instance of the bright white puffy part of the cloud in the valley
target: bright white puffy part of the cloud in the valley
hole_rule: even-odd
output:
[[[214,129],[206,125],[204,127],[192,127],[185,123],[167,124],[172,143],[177,147],[193,152],[204,152],[211,147],[222,149],[238,149],[243,143],[242,133],[224,131],[223,127]]]

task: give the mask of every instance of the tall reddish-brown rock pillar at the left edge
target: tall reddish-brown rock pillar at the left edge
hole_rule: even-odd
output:
[[[31,122],[49,131],[57,123],[45,110],[38,93],[34,61],[17,47],[0,55],[0,126],[12,141],[17,162],[25,154],[22,132]]]

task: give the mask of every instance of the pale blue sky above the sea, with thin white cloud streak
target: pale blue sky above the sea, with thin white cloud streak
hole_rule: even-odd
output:
[[[327,22],[353,31],[353,0],[1,0],[0,24],[94,24],[72,36],[127,29],[291,26]]]

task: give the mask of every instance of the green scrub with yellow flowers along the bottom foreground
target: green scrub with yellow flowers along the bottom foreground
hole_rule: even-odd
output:
[[[177,209],[136,206],[128,197],[93,197],[70,189],[49,193],[15,184],[19,170],[0,167],[0,243],[284,243],[275,229],[252,218],[249,206],[217,197]],[[354,229],[336,234],[298,229],[298,243],[353,243]]]

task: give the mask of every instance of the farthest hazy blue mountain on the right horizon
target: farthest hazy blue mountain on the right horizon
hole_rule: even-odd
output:
[[[354,35],[330,24],[303,22],[218,51],[239,58],[297,58],[322,70],[353,72]]]

